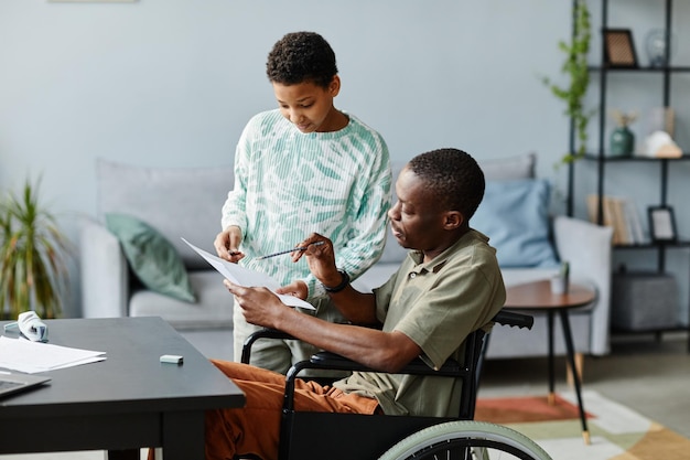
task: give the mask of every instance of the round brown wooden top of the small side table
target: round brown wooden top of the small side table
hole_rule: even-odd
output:
[[[548,279],[525,282],[506,288],[506,309],[561,309],[591,303],[596,293],[586,286],[571,282],[565,293],[552,293]]]

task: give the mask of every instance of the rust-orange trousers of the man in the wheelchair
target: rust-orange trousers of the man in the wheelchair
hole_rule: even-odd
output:
[[[206,413],[206,459],[230,460],[248,453],[278,459],[285,376],[240,363],[212,362],[245,393],[247,403],[242,408]],[[374,414],[377,407],[376,399],[299,378],[295,382],[294,408],[299,411]]]

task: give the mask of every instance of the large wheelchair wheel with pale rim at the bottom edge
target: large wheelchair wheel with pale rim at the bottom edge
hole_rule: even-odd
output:
[[[514,429],[473,420],[434,425],[408,436],[379,460],[552,460]]]

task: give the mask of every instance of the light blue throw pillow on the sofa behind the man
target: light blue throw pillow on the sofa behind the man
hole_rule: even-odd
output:
[[[549,238],[546,180],[488,181],[470,225],[489,237],[502,267],[558,265]]]

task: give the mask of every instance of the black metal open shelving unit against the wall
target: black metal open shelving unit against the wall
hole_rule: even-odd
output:
[[[648,163],[650,167],[658,167],[658,178],[659,178],[659,201],[656,203],[649,203],[649,205],[668,205],[668,172],[669,165],[678,162],[678,161],[690,161],[690,152],[683,152],[680,158],[648,158],[648,157],[610,157],[606,156],[605,145],[606,145],[606,92],[608,84],[608,76],[613,73],[625,73],[625,74],[659,74],[660,78],[662,78],[662,105],[664,107],[672,107],[671,106],[671,76],[677,73],[690,73],[690,66],[671,66],[670,65],[670,55],[671,55],[671,18],[673,14],[673,4],[672,0],[665,0],[664,3],[664,19],[665,19],[665,30],[666,30],[666,60],[667,63],[664,66],[637,66],[637,67],[613,67],[607,66],[604,61],[605,56],[605,41],[603,40],[603,32],[607,29],[608,25],[608,3],[610,0],[599,0],[601,1],[601,18],[602,18],[602,63],[597,66],[590,66],[590,71],[593,75],[599,76],[599,107],[597,107],[597,121],[599,121],[599,138],[596,150],[593,152],[589,152],[585,154],[585,161],[595,162],[596,163],[596,195],[599,196],[597,201],[597,220],[599,224],[603,225],[603,216],[604,216],[604,205],[603,197],[605,196],[605,182],[606,182],[606,165],[608,163],[625,163],[625,162],[644,162]],[[621,0],[624,1],[624,0]],[[573,2],[574,4],[574,2]],[[659,3],[661,6],[661,3]],[[574,9],[573,9],[574,10]],[[573,22],[574,23],[574,22]],[[689,97],[690,99],[690,97]],[[687,103],[687,101],[686,101]],[[570,127],[570,151],[575,151],[575,136],[574,136],[574,122],[571,120]],[[573,197],[574,197],[574,178],[575,178],[575,168],[576,164],[571,163],[569,168],[569,184],[568,184],[568,202],[567,202],[567,212],[569,215],[573,214]],[[682,249],[690,248],[690,240],[678,239],[675,242],[648,242],[644,244],[628,244],[628,245],[614,245],[615,250],[654,250],[657,254],[657,271],[659,274],[665,272],[666,270],[666,253],[671,249]],[[690,286],[690,280],[689,280]],[[690,310],[689,310],[690,312]],[[682,325],[679,324],[677,328],[662,329],[662,330],[650,330],[650,331],[627,331],[634,333],[648,333],[655,332],[660,334],[661,332],[672,331],[672,330],[684,330],[688,331],[688,352],[690,352],[690,313],[688,318],[688,324]]]

